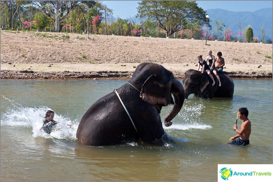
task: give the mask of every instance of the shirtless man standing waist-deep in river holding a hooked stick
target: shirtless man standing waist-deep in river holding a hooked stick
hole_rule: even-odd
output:
[[[249,144],[249,136],[251,133],[251,122],[247,118],[248,110],[247,108],[239,108],[239,118],[243,120],[241,124],[241,130],[237,128],[237,125],[234,124],[233,129],[238,133],[236,136],[230,138],[230,140],[234,140],[229,144],[238,144],[238,145],[248,145]],[[235,140],[238,138],[237,140]]]

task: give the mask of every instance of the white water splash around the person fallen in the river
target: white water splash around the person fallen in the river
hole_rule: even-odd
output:
[[[2,96],[2,95],[1,95]],[[59,124],[54,125],[52,132],[49,134],[45,132],[39,132],[39,129],[43,126],[43,120],[47,110],[52,110],[48,107],[23,107],[14,100],[10,100],[5,96],[2,98],[8,100],[12,107],[8,108],[1,117],[1,126],[22,126],[31,127],[33,132],[33,137],[44,137],[50,138],[54,137],[57,139],[73,139],[76,140],[76,132],[79,125],[79,121],[71,121],[71,119],[58,115],[55,112],[54,120],[59,122]],[[72,124],[72,126],[68,126]]]

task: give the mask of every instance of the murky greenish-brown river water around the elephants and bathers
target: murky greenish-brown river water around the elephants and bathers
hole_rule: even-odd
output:
[[[172,126],[163,125],[171,140],[162,146],[82,145],[82,115],[126,82],[1,80],[1,180],[217,181],[217,164],[272,164],[272,80],[234,80],[233,98],[191,95]],[[252,122],[249,146],[227,144],[240,107]],[[47,135],[38,129],[49,109],[59,124]],[[162,108],[162,120],[171,109]]]

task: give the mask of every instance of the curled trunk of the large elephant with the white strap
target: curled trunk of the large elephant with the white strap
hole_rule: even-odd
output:
[[[166,127],[172,125],[172,119],[178,114],[184,103],[185,92],[182,84],[178,80],[176,80],[176,83],[173,83],[173,85],[175,87],[175,91],[172,91],[172,94],[174,96],[175,105],[173,106],[172,111],[168,115],[166,115],[164,119],[164,125]]]

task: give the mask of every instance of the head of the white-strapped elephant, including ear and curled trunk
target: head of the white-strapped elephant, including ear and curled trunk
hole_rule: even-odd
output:
[[[140,97],[144,102],[155,106],[159,113],[162,106],[174,104],[172,111],[164,119],[164,125],[171,126],[171,120],[181,110],[185,95],[183,85],[173,76],[172,72],[158,64],[142,63],[136,68],[130,81],[132,83],[144,81]]]

